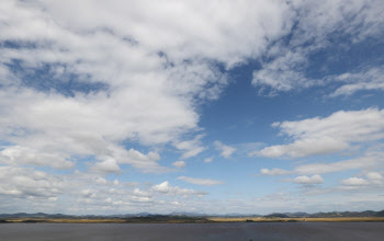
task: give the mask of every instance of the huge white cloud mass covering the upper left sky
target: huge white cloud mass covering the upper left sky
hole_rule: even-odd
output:
[[[290,30],[289,10],[271,1],[1,1],[0,41],[15,47],[0,48],[0,138],[54,158],[54,168],[87,156],[108,172],[121,163],[165,172],[158,160],[132,158],[122,141],[178,140],[182,158],[203,151],[199,138],[181,137],[199,129],[196,106],[227,83],[212,62],[229,69],[260,56]],[[41,69],[47,80],[33,74]],[[94,84],[103,88],[87,92]]]

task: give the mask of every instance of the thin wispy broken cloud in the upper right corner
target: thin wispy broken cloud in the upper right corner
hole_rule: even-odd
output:
[[[296,13],[293,16],[296,24],[292,27],[291,35],[286,36],[287,39],[281,38],[273,43],[266,53],[268,60],[261,61],[260,70],[253,72],[252,85],[259,89],[259,93],[275,95],[279,92],[339,82],[337,78],[329,78],[327,71],[321,71],[316,78],[308,74],[312,57],[339,46],[345,49],[346,45],[353,46],[370,37],[381,37],[384,30],[384,21],[380,15],[384,4],[380,0],[291,3]],[[335,42],[334,36],[338,37],[338,42]],[[363,66],[364,64],[360,67]],[[377,79],[371,79],[373,76],[370,74],[364,77],[369,78],[347,83],[334,95],[351,94],[364,89],[383,89],[380,76],[374,77]]]

